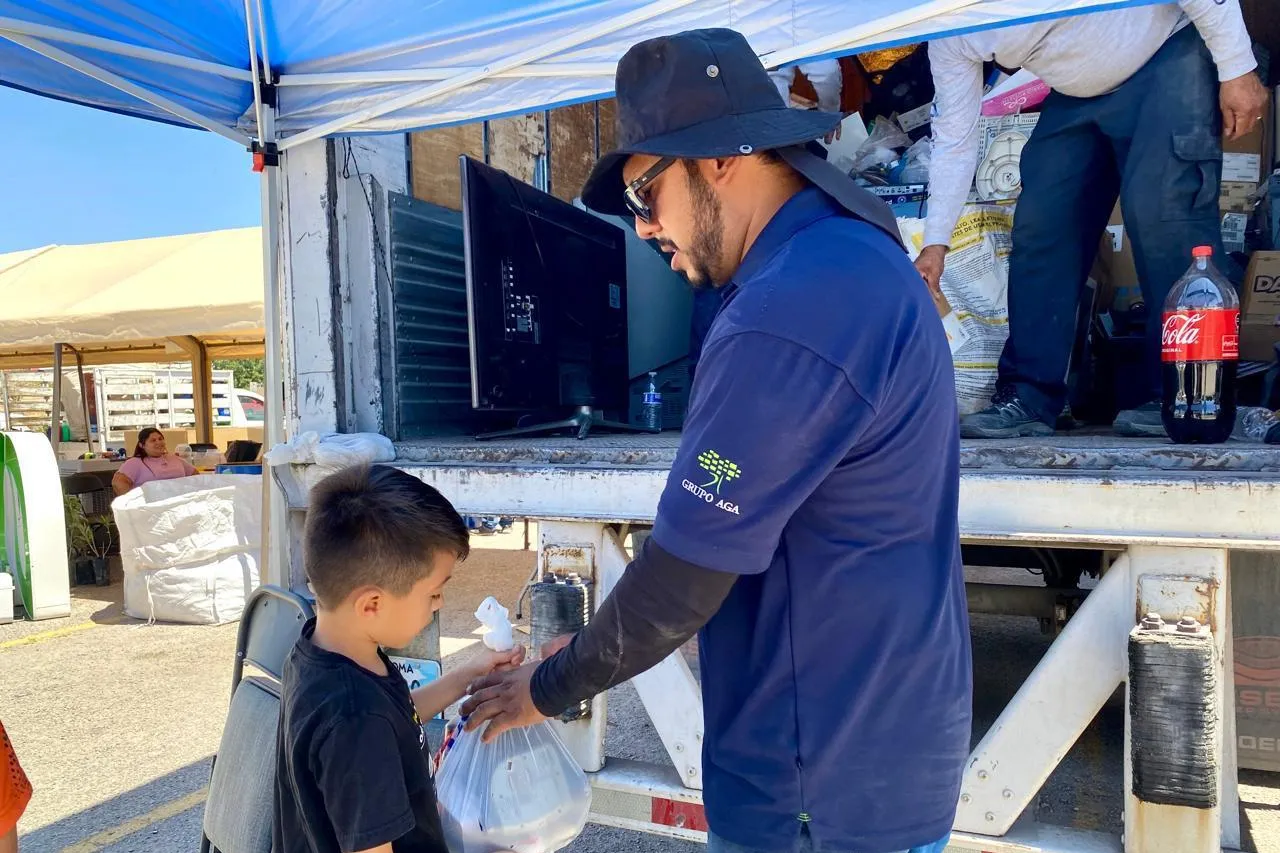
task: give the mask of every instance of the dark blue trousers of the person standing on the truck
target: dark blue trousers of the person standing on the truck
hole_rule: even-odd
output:
[[[1115,91],[1044,101],[1023,150],[997,384],[1046,424],[1066,403],[1080,295],[1116,197],[1147,305],[1146,401],[1161,394],[1161,310],[1192,248],[1212,246],[1219,269],[1238,275],[1217,210],[1221,136],[1217,68],[1192,26]]]

